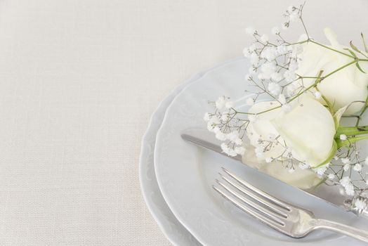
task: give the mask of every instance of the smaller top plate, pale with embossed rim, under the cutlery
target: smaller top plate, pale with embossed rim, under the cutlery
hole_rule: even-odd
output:
[[[185,143],[180,132],[190,127],[205,128],[204,112],[211,112],[208,100],[218,96],[244,96],[248,63],[240,59],[210,70],[187,86],[166,111],[155,145],[155,171],[159,188],[176,218],[204,245],[364,245],[327,231],[315,231],[306,238],[281,235],[225,202],[211,189],[218,171],[226,167],[263,190],[317,216],[368,228],[367,221],[311,198],[303,192],[258,173],[239,162]]]

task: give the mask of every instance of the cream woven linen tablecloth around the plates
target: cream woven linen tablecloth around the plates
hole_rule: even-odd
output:
[[[169,245],[138,182],[151,113],[298,3],[0,0],[0,245]],[[310,0],[305,20],[359,40],[367,10]]]

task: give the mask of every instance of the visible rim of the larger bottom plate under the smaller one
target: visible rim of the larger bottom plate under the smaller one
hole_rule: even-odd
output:
[[[159,104],[158,108],[152,114],[150,124],[148,125],[147,131],[143,136],[140,150],[139,178],[143,198],[145,199],[147,207],[152,216],[157,221],[159,228],[161,228],[164,235],[166,235],[166,238],[168,238],[173,245],[201,244],[192,236],[192,234],[190,234],[188,230],[185,229],[182,224],[180,224],[178,219],[176,219],[162,197],[161,191],[159,190],[153,162],[156,134],[162,124],[166,109],[173,101],[173,98],[175,98],[175,96],[182,91],[185,86],[188,86],[188,84],[194,82],[203,74],[204,73],[201,73],[195,77],[192,77],[192,79],[189,79],[188,82],[178,86],[176,89],[171,91],[169,96],[166,96],[166,98]]]

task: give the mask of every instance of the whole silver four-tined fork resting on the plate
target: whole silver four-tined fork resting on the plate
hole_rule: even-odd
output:
[[[264,224],[292,238],[303,238],[316,229],[326,229],[368,242],[368,232],[334,221],[316,219],[313,212],[289,205],[252,186],[223,168],[227,175],[212,186],[225,199]]]

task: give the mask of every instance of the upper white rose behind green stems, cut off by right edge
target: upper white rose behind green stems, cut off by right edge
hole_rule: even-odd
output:
[[[338,51],[348,53],[336,40],[336,34],[329,28],[324,29],[324,34],[331,43],[331,48]],[[357,56],[361,56],[357,53]],[[343,65],[346,65],[353,61],[353,58],[344,56],[331,51],[327,48],[308,42],[303,45],[303,53],[301,53],[301,62],[298,63],[298,70],[296,74],[301,76],[315,77],[323,70],[323,75],[327,75],[329,72],[336,70]],[[362,58],[362,57],[361,57]],[[368,72],[368,63],[360,62],[362,70]],[[315,79],[303,79],[304,86],[313,84]],[[339,110],[354,101],[366,101],[368,91],[368,73],[361,72],[356,65],[350,65],[339,72],[323,79],[317,88],[327,100],[334,105],[334,110]],[[344,115],[352,115],[362,109],[364,103],[353,103],[348,107]]]

